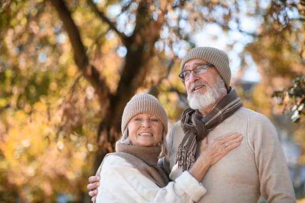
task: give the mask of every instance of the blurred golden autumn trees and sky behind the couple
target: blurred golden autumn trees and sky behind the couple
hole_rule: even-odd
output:
[[[124,107],[155,95],[170,127],[187,108],[181,58],[230,59],[243,106],[267,116],[305,202],[305,2],[0,1],[0,202],[90,202]],[[261,202],[264,200],[261,199]]]

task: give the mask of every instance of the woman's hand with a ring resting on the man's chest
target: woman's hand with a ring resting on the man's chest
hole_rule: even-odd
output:
[[[200,157],[204,158],[210,165],[213,165],[229,151],[238,147],[241,140],[241,134],[236,132],[230,132],[217,139],[212,139],[208,144],[205,137],[201,142]]]

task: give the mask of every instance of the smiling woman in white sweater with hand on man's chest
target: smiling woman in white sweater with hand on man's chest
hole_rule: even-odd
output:
[[[123,138],[116,143],[116,153],[107,154],[97,172],[101,180],[96,202],[198,201],[206,192],[200,181],[208,167],[242,139],[230,133],[207,145],[205,138],[190,170],[169,182],[158,165],[158,158],[168,154],[167,115],[158,99],[136,94],[124,109],[121,129]]]

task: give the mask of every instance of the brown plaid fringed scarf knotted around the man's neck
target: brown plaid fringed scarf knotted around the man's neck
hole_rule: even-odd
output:
[[[181,127],[185,136],[176,154],[176,163],[178,162],[178,167],[182,166],[182,171],[189,170],[193,166],[197,142],[203,140],[209,131],[240,107],[242,102],[235,89],[230,87],[229,93],[207,115],[202,116],[198,110],[190,107],[182,113]]]

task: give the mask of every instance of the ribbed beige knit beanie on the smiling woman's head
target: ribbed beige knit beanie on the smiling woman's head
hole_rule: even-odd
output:
[[[122,117],[122,133],[124,133],[129,121],[140,113],[156,116],[161,121],[165,133],[167,133],[167,114],[163,106],[155,96],[144,92],[134,95],[129,103],[127,103]]]

